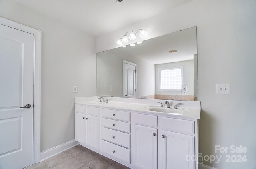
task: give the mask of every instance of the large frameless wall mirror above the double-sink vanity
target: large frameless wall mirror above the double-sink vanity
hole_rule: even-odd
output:
[[[196,27],[96,54],[96,95],[197,100]]]

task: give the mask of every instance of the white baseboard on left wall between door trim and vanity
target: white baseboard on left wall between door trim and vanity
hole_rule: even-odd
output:
[[[48,149],[46,151],[43,151],[41,153],[41,160],[40,161],[44,161],[58,153],[61,153],[62,151],[65,151],[67,149],[70,149],[71,147],[74,147],[76,145],[78,145],[79,142],[75,141],[75,140],[71,140],[71,141],[68,141],[64,144],[61,144],[61,145],[58,145],[56,147],[53,147],[51,149]]]

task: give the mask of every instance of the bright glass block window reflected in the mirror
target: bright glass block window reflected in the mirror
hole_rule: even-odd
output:
[[[181,90],[182,79],[182,67],[159,69],[160,90]]]

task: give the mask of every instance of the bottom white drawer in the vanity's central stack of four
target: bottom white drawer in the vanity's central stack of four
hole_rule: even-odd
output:
[[[102,140],[100,150],[122,161],[131,163],[131,150]]]

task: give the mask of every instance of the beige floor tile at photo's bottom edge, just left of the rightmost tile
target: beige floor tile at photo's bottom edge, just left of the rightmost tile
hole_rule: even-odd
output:
[[[99,155],[86,165],[91,169],[107,169],[114,161],[102,155]]]

